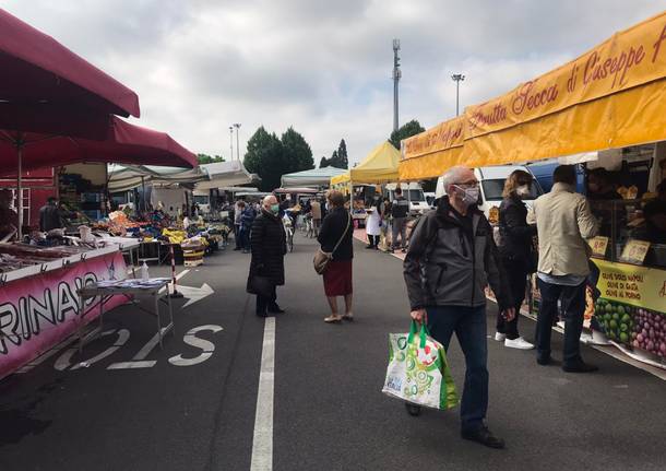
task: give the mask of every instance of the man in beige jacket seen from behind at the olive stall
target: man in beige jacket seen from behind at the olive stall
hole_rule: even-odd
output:
[[[581,332],[585,313],[585,280],[590,274],[590,248],[585,239],[598,232],[584,196],[575,192],[575,168],[560,165],[552,174],[549,193],[534,202],[539,239],[538,286],[542,305],[536,322],[536,361],[550,363],[550,332],[558,311],[564,317],[562,369],[591,373],[598,369],[581,357]]]

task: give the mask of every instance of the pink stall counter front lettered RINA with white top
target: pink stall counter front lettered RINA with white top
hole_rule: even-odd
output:
[[[127,275],[116,244],[100,248],[1,244],[0,257],[0,378],[96,318],[98,298],[86,301],[85,320],[80,318],[79,289]],[[120,304],[121,299],[109,299],[106,308]]]

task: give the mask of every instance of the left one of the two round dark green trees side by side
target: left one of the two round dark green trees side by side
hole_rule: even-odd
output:
[[[285,168],[283,145],[275,133],[261,126],[248,141],[248,152],[243,164],[248,172],[261,177],[262,191],[271,191],[280,187],[280,178]]]

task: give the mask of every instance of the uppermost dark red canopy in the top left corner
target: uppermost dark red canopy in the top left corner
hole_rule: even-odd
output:
[[[0,102],[139,117],[134,92],[2,9],[0,32]]]

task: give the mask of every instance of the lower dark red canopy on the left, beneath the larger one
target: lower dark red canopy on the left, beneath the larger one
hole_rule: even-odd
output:
[[[15,175],[16,139],[23,169],[56,167],[82,162],[193,167],[197,156],[164,132],[110,118],[104,141],[0,130],[0,175]]]

